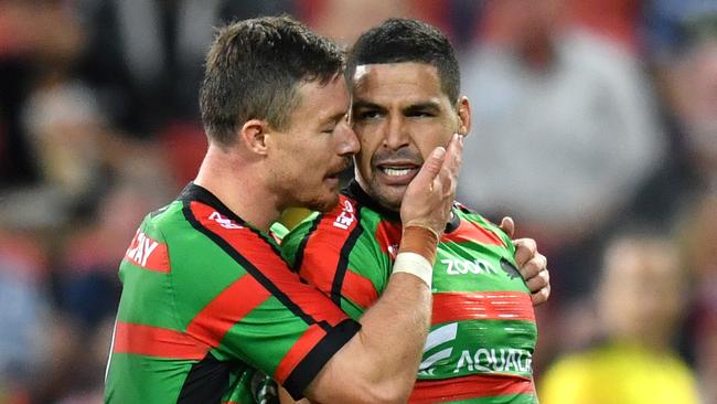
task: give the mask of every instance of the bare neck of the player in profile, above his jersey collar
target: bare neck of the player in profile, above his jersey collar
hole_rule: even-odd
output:
[[[212,192],[237,216],[266,232],[279,217],[279,198],[266,187],[260,160],[242,156],[237,148],[210,145],[194,183]]]

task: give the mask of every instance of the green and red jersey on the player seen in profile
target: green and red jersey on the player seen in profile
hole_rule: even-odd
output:
[[[298,398],[360,329],[194,184],[143,220],[119,276],[108,403],[245,402],[249,369]]]

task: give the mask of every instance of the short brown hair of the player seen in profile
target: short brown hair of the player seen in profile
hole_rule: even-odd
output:
[[[261,119],[286,129],[306,82],[327,84],[343,72],[344,54],[290,17],[265,17],[218,30],[206,55],[200,89],[210,141],[229,146],[237,129]]]

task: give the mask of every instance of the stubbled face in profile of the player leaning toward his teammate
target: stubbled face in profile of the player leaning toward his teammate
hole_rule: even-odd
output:
[[[270,137],[277,145],[269,167],[281,209],[327,211],[339,202],[339,173],[358,150],[346,120],[349,93],[343,77],[325,86],[304,83],[290,126]]]

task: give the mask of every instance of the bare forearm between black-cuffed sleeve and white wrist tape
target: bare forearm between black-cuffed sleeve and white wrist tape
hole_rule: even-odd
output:
[[[418,371],[430,321],[428,286],[394,274],[362,317],[362,330],[332,358],[307,390],[314,403],[404,403]]]

